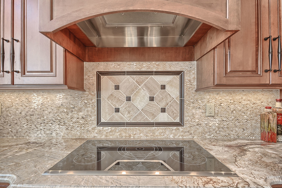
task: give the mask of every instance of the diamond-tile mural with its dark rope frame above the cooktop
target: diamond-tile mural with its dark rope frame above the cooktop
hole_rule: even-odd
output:
[[[184,126],[184,71],[96,71],[97,126]]]

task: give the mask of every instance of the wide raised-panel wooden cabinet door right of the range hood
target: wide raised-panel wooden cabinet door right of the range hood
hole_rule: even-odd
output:
[[[216,48],[215,85],[270,83],[268,1],[241,0],[241,30]]]

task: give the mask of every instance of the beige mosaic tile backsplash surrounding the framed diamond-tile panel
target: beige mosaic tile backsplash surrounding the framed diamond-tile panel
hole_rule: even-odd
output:
[[[96,71],[183,70],[184,127],[97,127]],[[0,91],[0,137],[260,138],[259,114],[278,90],[195,92],[195,62],[85,63],[85,90]],[[206,117],[206,103],[215,116]]]

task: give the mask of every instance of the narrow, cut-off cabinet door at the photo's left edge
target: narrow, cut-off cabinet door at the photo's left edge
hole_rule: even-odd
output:
[[[1,45],[0,40],[0,46],[4,48],[4,54],[1,54],[1,56],[4,56],[4,71],[9,71],[9,73],[1,72],[0,71],[0,87],[1,85],[11,85],[12,79],[11,79],[11,62],[10,62],[10,48],[11,48],[11,0],[1,0],[0,9],[1,9],[1,37],[6,40],[9,40],[9,42],[3,42],[3,46]],[[1,65],[0,65],[1,69]]]

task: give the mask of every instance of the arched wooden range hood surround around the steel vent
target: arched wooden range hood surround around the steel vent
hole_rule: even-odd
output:
[[[46,9],[50,7],[50,9]],[[97,48],[76,23],[123,12],[179,15],[203,24],[183,47]],[[39,1],[39,32],[84,62],[196,61],[240,30],[238,0]]]

